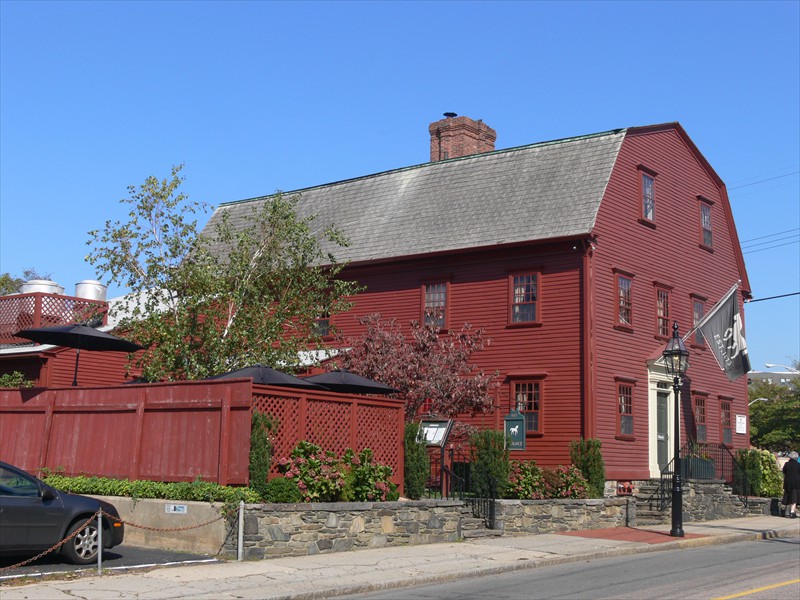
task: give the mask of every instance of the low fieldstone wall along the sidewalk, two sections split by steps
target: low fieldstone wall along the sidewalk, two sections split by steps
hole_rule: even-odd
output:
[[[497,529],[547,533],[635,524],[627,498],[603,500],[499,500]],[[244,558],[262,559],[344,552],[359,548],[455,542],[472,525],[469,507],[457,500],[314,504],[249,504],[245,507]],[[236,531],[223,552],[236,554]]]

